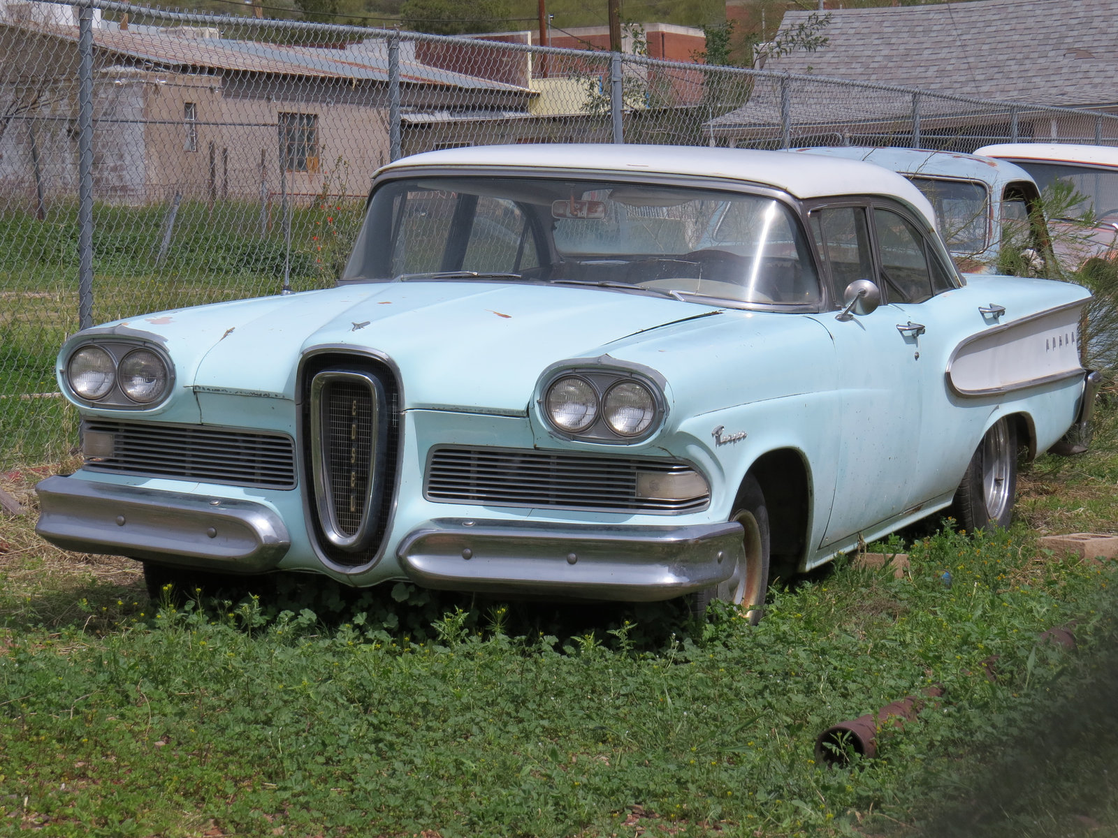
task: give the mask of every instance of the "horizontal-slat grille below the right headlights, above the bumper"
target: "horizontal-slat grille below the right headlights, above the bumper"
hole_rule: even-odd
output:
[[[637,474],[682,474],[679,463],[506,448],[439,448],[427,468],[429,501],[493,506],[551,506],[600,512],[691,512],[709,494],[639,497]]]

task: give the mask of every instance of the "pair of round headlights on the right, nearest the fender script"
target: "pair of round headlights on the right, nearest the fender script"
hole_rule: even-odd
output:
[[[593,442],[636,442],[660,427],[663,391],[642,370],[567,369],[544,378],[543,418],[560,436]]]

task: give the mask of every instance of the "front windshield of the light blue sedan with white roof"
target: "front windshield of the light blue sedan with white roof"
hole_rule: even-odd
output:
[[[768,196],[543,178],[377,189],[342,282],[494,278],[676,298],[815,305],[795,213]]]

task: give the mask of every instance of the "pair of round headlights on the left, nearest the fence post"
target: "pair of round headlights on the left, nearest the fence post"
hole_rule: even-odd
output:
[[[84,343],[70,352],[64,383],[98,407],[145,408],[170,391],[173,370],[162,353],[124,341]]]

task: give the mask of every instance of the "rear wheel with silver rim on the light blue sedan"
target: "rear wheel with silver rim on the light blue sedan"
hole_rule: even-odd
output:
[[[998,419],[978,444],[959,487],[950,515],[968,532],[1008,526],[1017,493],[1017,432],[1013,422]]]

